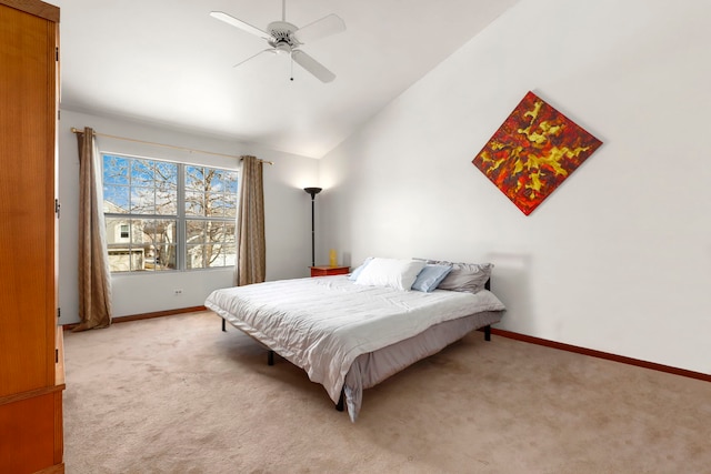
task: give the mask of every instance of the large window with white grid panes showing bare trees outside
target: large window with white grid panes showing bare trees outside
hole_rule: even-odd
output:
[[[102,154],[112,272],[234,265],[237,172]]]

